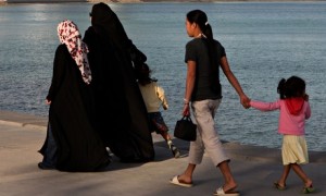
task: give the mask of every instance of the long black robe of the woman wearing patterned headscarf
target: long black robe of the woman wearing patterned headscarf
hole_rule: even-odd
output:
[[[51,100],[49,123],[58,147],[58,170],[95,171],[110,162],[105,146],[93,128],[92,97],[66,46],[60,45],[47,96]],[[40,152],[45,154],[46,148],[47,139]]]

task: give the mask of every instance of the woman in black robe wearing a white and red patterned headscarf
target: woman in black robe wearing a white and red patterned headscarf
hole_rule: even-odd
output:
[[[57,48],[46,142],[40,169],[96,171],[110,163],[109,154],[91,122],[93,99],[87,46],[71,21],[58,25],[62,45]]]

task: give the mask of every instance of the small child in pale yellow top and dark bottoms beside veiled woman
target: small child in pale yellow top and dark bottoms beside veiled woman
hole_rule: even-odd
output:
[[[168,148],[173,156],[178,158],[180,156],[179,150],[171,140],[168,135],[168,128],[161,115],[160,107],[163,106],[164,110],[167,110],[168,105],[164,95],[164,89],[158,85],[158,81],[150,77],[150,69],[146,63],[136,66],[136,75],[138,78],[138,85],[148,111],[148,118],[150,121],[151,130],[154,130],[158,134],[166,140]]]

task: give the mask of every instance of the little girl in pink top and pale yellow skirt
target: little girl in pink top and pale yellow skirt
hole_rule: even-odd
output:
[[[310,118],[311,109],[305,94],[305,83],[297,76],[283,78],[277,91],[280,99],[275,102],[250,101],[251,107],[261,111],[280,110],[278,133],[284,135],[281,146],[284,171],[274,186],[277,189],[286,189],[286,180],[292,169],[304,183],[303,193],[311,193],[314,191],[313,182],[299,166],[309,162],[304,121]]]

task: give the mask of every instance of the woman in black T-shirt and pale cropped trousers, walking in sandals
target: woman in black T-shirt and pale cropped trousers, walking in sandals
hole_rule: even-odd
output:
[[[244,108],[249,103],[249,98],[229,68],[224,47],[213,39],[206,14],[201,10],[188,12],[186,29],[188,36],[193,39],[186,45],[187,79],[183,114],[190,114],[191,102],[198,133],[197,139],[190,143],[187,169],[180,175],[174,176],[171,183],[192,186],[193,171],[196,166],[201,163],[205,150],[224,177],[224,184],[214,192],[214,195],[239,195],[235,191],[237,183],[228,164],[230,159],[225,154],[214,128],[214,114],[222,99],[220,66]]]

